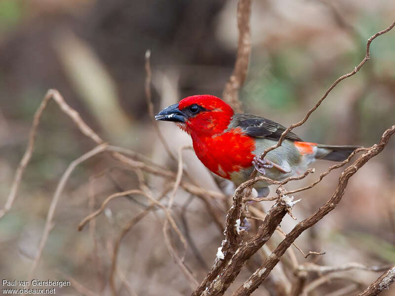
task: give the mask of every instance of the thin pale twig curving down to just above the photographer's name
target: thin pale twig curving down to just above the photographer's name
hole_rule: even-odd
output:
[[[80,156],[76,160],[74,160],[72,163],[70,163],[69,167],[67,168],[67,170],[63,174],[62,178],[60,179],[59,184],[56,187],[55,193],[53,195],[51,204],[50,204],[49,209],[48,209],[48,214],[47,214],[47,217],[46,217],[44,230],[42,232],[40,245],[39,245],[39,248],[37,250],[37,253],[36,253],[35,259],[33,261],[32,267],[30,269],[30,272],[29,272],[29,276],[28,276],[29,279],[32,278],[34,272],[36,271],[37,265],[39,264],[39,261],[40,261],[40,258],[41,258],[41,254],[42,254],[42,250],[44,249],[44,246],[45,246],[46,240],[48,238],[49,232],[51,231],[51,228],[52,228],[52,219],[53,219],[53,216],[55,214],[56,205],[58,204],[60,195],[62,194],[63,189],[64,189],[64,187],[65,187],[65,185],[67,183],[67,180],[69,179],[71,173],[74,171],[74,169],[81,162],[84,162],[85,160],[91,158],[92,156],[95,156],[96,154],[98,154],[100,152],[103,152],[106,148],[107,148],[107,144],[101,144],[99,146],[96,146],[95,148],[93,148],[89,152],[83,154],[82,156]]]

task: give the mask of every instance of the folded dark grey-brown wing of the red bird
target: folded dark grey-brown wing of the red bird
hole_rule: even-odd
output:
[[[237,119],[236,119],[237,118]],[[244,133],[255,138],[270,138],[278,140],[281,134],[286,130],[284,126],[270,119],[266,119],[253,114],[236,114],[233,128],[240,127]],[[285,139],[290,141],[303,141],[292,132],[285,135]]]

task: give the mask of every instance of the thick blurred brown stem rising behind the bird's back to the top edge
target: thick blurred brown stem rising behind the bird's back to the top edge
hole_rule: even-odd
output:
[[[251,30],[250,30],[251,0],[238,0],[237,4],[237,58],[235,68],[229,81],[225,85],[222,98],[232,108],[241,112],[241,103],[238,100],[238,91],[247,76],[248,61],[251,53]]]

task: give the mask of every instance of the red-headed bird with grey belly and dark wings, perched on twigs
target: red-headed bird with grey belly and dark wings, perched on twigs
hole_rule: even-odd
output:
[[[240,185],[253,168],[266,177],[281,181],[304,173],[316,159],[345,160],[358,146],[332,146],[303,142],[292,132],[282,145],[259,157],[276,145],[285,127],[270,119],[235,113],[231,106],[211,95],[187,97],[156,116],[173,121],[192,138],[195,153],[214,174]],[[269,194],[269,184],[254,185],[259,196]]]

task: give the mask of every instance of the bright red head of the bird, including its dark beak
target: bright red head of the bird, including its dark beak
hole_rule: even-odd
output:
[[[186,97],[158,113],[157,120],[174,121],[191,136],[222,133],[234,112],[220,98],[211,95]]]

